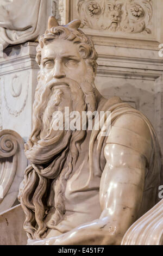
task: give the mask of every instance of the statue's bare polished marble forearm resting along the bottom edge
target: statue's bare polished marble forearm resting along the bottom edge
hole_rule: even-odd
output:
[[[30,245],[116,245],[121,243],[116,225],[109,217],[80,225],[57,237],[32,241]]]

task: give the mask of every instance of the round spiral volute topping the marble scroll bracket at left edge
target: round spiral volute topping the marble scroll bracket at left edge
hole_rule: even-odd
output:
[[[14,135],[9,132],[0,133],[0,157],[14,156],[17,151],[17,140]]]

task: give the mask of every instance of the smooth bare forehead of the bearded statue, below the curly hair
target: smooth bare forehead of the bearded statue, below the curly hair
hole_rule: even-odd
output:
[[[80,57],[78,46],[68,40],[54,40],[44,45],[41,50],[43,58],[56,58],[64,56],[77,56]]]

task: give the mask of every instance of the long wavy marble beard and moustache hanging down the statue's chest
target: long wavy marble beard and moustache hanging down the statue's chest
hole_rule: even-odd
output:
[[[66,107],[69,105],[81,117],[82,111],[95,111],[95,93],[88,80],[92,81],[92,77],[80,85],[67,78],[52,80],[46,85],[40,81],[36,88],[33,131],[25,147],[31,164],[25,171],[20,196],[26,214],[24,229],[30,239],[43,238],[47,228],[57,225],[65,214],[66,182],[73,174],[86,131],[53,130],[53,113],[63,111],[65,102]],[[68,87],[55,89],[58,83]],[[48,226],[45,220],[51,209],[55,209],[55,213],[53,223]]]

